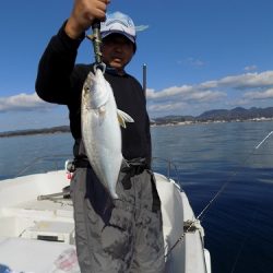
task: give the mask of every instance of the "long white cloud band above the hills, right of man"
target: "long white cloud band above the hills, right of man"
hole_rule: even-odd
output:
[[[273,100],[273,71],[227,75],[194,85],[147,88],[150,115],[200,115],[204,109],[269,107]],[[193,114],[194,112],[194,114]]]

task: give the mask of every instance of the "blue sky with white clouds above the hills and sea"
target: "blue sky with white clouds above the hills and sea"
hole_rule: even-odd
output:
[[[1,2],[0,131],[69,123],[67,108],[41,102],[34,86],[39,58],[72,4]],[[147,64],[151,118],[273,106],[272,0],[112,0],[108,11],[145,28],[128,72],[142,82]],[[78,62],[93,60],[85,40]]]

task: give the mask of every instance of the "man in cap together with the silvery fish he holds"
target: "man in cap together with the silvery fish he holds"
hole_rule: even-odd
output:
[[[161,201],[151,171],[151,133],[141,84],[124,71],[136,50],[133,21],[109,0],[74,0],[39,61],[36,92],[67,105],[74,138],[71,197],[83,273],[161,273]],[[106,69],[75,64],[85,32],[100,21]],[[119,127],[118,120],[123,127]]]

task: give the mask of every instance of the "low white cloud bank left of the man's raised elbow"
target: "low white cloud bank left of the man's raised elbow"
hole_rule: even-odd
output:
[[[36,93],[21,93],[10,97],[0,97],[0,112],[32,111],[51,107],[54,107],[54,105],[41,100]]]

